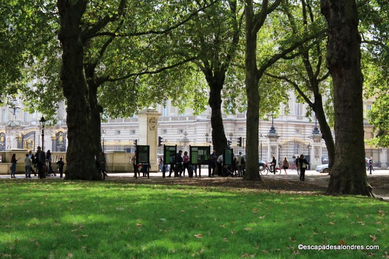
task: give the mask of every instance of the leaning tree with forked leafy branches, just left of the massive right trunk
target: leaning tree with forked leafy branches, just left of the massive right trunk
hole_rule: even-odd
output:
[[[293,10],[295,11],[292,14]],[[299,35],[301,31],[307,32],[308,30],[318,31],[323,29],[324,26],[322,21],[320,21],[318,8],[314,9],[308,1],[302,0],[301,24],[297,24],[296,19],[294,18],[296,12],[299,11],[299,5],[297,7],[292,7],[289,1],[285,1],[283,3],[283,12],[288,17],[290,28],[294,35]],[[318,21],[316,21],[315,18],[317,18]],[[322,138],[327,146],[329,167],[332,168],[335,159],[335,143],[332,137],[331,128],[327,122],[322,98],[323,94],[328,94],[330,92],[328,91],[329,84],[326,82],[329,72],[325,67],[323,67],[324,62],[322,62],[323,54],[325,54],[325,48],[322,46],[323,40],[324,35],[318,37],[313,44],[302,44],[299,48],[297,48],[296,54],[298,56],[293,60],[285,60],[281,69],[278,69],[280,72],[279,75],[271,73],[265,74],[272,78],[289,83],[296,93],[300,95],[308,106],[315,112]],[[312,101],[311,97],[313,98]]]

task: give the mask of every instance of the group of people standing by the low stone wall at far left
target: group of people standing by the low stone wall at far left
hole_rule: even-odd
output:
[[[20,158],[16,159],[16,154],[12,154],[11,157],[11,178],[16,178],[16,164]],[[34,176],[38,174],[38,178],[46,178],[50,175],[56,176],[55,171],[52,166],[52,154],[50,150],[47,150],[45,153],[40,146],[37,147],[35,155],[30,150],[23,159],[24,162],[24,173],[26,178],[31,178],[31,173],[34,173]],[[64,162],[62,157],[56,162],[58,171],[60,173],[60,178],[63,175]],[[33,168],[35,167],[35,170]]]

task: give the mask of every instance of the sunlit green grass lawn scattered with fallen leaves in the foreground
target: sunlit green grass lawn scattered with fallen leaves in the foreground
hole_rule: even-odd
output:
[[[0,180],[0,258],[382,258],[389,203],[114,182]],[[379,250],[306,251],[298,244]],[[389,256],[388,256],[389,258]]]

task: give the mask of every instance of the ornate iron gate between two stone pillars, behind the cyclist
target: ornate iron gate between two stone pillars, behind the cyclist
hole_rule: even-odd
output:
[[[304,158],[310,162],[311,159],[311,143],[302,139],[289,139],[280,142],[278,145],[278,162],[282,163],[286,157],[289,161],[289,169],[296,169],[296,156],[304,155]]]

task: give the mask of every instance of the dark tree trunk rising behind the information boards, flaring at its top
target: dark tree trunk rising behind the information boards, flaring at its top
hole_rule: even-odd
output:
[[[222,97],[224,79],[207,80],[210,86],[210,97],[208,103],[211,107],[212,144],[217,155],[223,154],[223,148],[227,147],[227,138],[224,132],[222,118]]]

